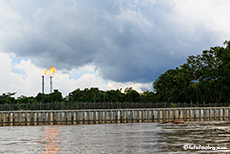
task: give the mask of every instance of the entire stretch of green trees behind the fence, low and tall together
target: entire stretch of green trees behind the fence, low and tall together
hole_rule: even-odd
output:
[[[211,47],[201,55],[188,56],[187,62],[169,69],[153,83],[154,91],[138,93],[132,87],[102,91],[98,88],[76,89],[63,97],[54,90],[44,94],[44,103],[51,102],[194,102],[229,103],[230,102],[230,42],[225,47]],[[0,95],[0,104],[40,103],[42,94],[36,97],[21,96],[15,93]]]

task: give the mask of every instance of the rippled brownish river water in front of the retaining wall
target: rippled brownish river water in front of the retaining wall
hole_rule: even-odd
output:
[[[229,121],[9,126],[0,132],[6,154],[230,153]]]

